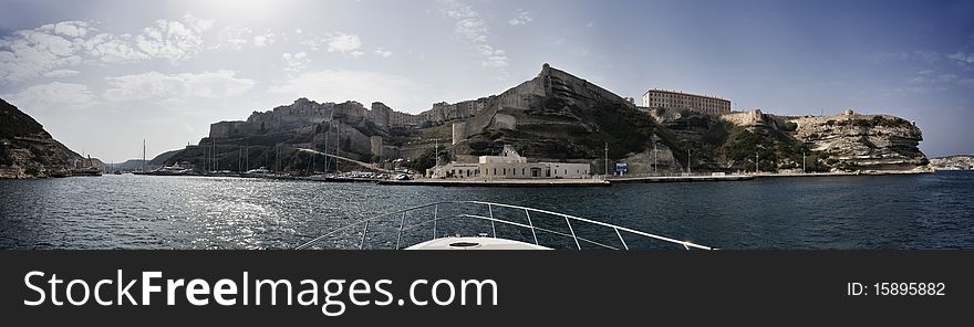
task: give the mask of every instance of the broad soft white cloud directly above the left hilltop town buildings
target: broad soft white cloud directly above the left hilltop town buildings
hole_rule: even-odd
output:
[[[417,94],[421,87],[412,81],[375,72],[364,71],[320,71],[307,72],[286,83],[272,87],[270,92],[293,97],[309,97],[320,102],[358,101],[369,104],[382,102],[397,110],[418,112],[425,101]]]

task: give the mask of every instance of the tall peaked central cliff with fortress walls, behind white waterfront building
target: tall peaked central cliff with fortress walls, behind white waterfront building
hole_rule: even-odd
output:
[[[455,128],[454,136],[463,139],[454,140],[452,152],[480,156],[510,145],[532,159],[589,162],[593,171],[601,171],[607,143],[610,166],[626,158],[645,159],[653,139],[663,145],[657,159],[673,158],[670,139],[654,135],[659,128],[621,96],[545,64],[535,78],[488,97],[485,108],[463,123],[464,133]],[[672,162],[657,160],[666,169]],[[643,166],[630,169],[651,171]]]

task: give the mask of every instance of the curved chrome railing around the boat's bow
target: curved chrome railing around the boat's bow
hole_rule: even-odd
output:
[[[484,205],[487,209],[487,215],[472,214],[472,213],[458,213],[458,214],[448,214],[445,217],[441,217],[442,214],[441,214],[439,208],[442,205],[458,205],[458,204]],[[428,209],[428,208],[433,209],[432,219],[421,221],[419,223],[415,223],[413,225],[408,225],[408,226],[406,225],[407,213],[416,212],[416,211],[419,211],[423,209]],[[508,210],[512,209],[512,210],[524,211],[527,223],[521,223],[521,222],[517,222],[517,221],[496,218],[494,214],[494,211],[495,211],[495,209],[499,209],[499,208],[504,208],[504,209],[508,209]],[[545,226],[536,224],[535,220],[531,219],[532,212],[535,213],[535,220],[537,220],[539,217],[557,217],[557,218],[563,219],[564,224],[568,226],[568,233],[566,233],[563,231],[556,231],[551,228],[545,228]],[[683,249],[686,249],[686,250],[691,250],[691,249],[714,250],[713,247],[709,247],[709,246],[704,246],[704,245],[700,245],[700,244],[687,242],[687,241],[680,241],[680,240],[675,240],[675,239],[671,239],[671,238],[666,238],[666,236],[651,234],[651,233],[646,233],[646,232],[642,232],[642,231],[638,231],[638,230],[633,230],[633,229],[629,229],[629,228],[624,228],[624,226],[620,226],[620,225],[615,225],[615,224],[604,223],[604,222],[595,221],[595,220],[591,220],[591,219],[584,219],[584,218],[579,218],[579,217],[574,217],[574,215],[570,215],[570,214],[558,213],[558,212],[535,209],[535,208],[528,208],[528,207],[493,203],[493,202],[484,202],[484,201],[444,201],[444,202],[435,202],[435,203],[402,209],[402,210],[394,211],[394,212],[388,212],[388,213],[385,213],[385,214],[382,214],[379,217],[361,220],[359,222],[332,230],[325,234],[319,235],[308,242],[304,242],[301,245],[298,245],[296,249],[297,250],[309,249],[312,245],[314,245],[315,243],[319,243],[320,241],[322,241],[329,236],[335,235],[335,234],[343,232],[343,231],[355,231],[356,229],[360,229],[360,228],[361,228],[362,236],[361,236],[361,240],[359,242],[358,247],[364,249],[365,240],[366,240],[366,236],[369,235],[369,232],[370,232],[370,230],[369,230],[370,223],[382,221],[382,220],[387,220],[387,219],[395,219],[395,218],[398,218],[398,220],[400,220],[398,221],[398,229],[396,231],[396,239],[395,239],[395,249],[396,250],[402,247],[401,243],[403,240],[403,232],[411,231],[411,230],[414,230],[416,228],[421,228],[426,224],[432,224],[433,234],[432,234],[431,240],[433,240],[433,239],[437,238],[437,223],[439,221],[446,221],[446,220],[450,220],[450,219],[460,219],[460,218],[489,221],[490,222],[490,235],[493,238],[497,238],[497,224],[498,223],[504,224],[504,225],[511,225],[511,226],[517,226],[517,228],[530,230],[532,241],[535,242],[536,245],[539,245],[539,246],[545,246],[538,240],[538,232],[542,232],[542,233],[550,233],[553,235],[570,238],[574,242],[574,247],[577,247],[579,250],[582,249],[582,244],[591,244],[591,245],[595,245],[599,247],[611,249],[611,250],[619,250],[620,249],[618,246],[612,246],[612,245],[605,244],[604,241],[599,242],[599,241],[591,240],[588,238],[579,236],[578,234],[576,234],[574,226],[572,226],[572,222],[576,222],[576,224],[586,223],[589,225],[612,229],[615,232],[615,236],[619,239],[619,242],[622,245],[622,249],[624,249],[624,250],[629,250],[629,243],[626,243],[625,239],[622,236],[623,233],[638,235],[638,236],[649,239],[649,240],[662,241],[662,242],[666,242],[666,243],[682,245]],[[486,236],[486,234],[481,234],[481,235]]]

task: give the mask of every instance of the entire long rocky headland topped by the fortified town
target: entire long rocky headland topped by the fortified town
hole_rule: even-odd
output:
[[[441,162],[475,162],[511,145],[531,159],[586,162],[595,172],[615,162],[625,162],[630,173],[913,171],[928,169],[918,148],[922,139],[906,119],[852,110],[779,116],[640,107],[545,64],[535,78],[499,95],[436,103],[419,114],[377,102],[366,108],[299,98],[244,122],[214,123],[200,145],[167,164],[236,169],[246,157],[247,169],[321,169],[320,159],[296,150],[308,148],[423,171],[437,156]]]

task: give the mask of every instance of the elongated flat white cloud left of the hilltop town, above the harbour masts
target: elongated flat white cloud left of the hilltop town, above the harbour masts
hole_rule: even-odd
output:
[[[232,71],[204,72],[199,74],[163,74],[147,72],[134,75],[107,77],[105,99],[111,102],[139,99],[180,99],[187,97],[228,97],[240,95],[257,82],[239,78]]]

